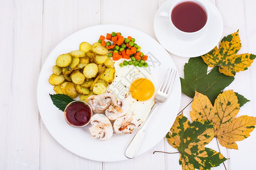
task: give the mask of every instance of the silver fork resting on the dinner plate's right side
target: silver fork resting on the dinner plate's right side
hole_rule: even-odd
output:
[[[170,93],[172,85],[174,84],[176,74],[177,74],[176,70],[168,69],[166,74],[164,75],[164,79],[160,85],[160,88],[156,92],[154,105],[152,106],[151,111],[148,114],[146,121],[142,125],[141,129],[139,129],[137,131],[137,133],[134,135],[133,139],[131,139],[131,142],[129,143],[128,147],[126,148],[125,156],[127,158],[132,159],[136,155],[138,148],[141,145],[142,138],[144,137],[147,123],[150,120],[152,113],[154,113],[156,107],[158,107],[160,104],[164,103],[164,101],[167,100],[168,94]]]

